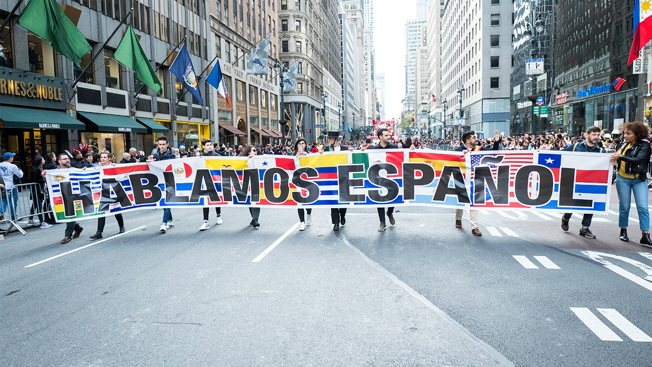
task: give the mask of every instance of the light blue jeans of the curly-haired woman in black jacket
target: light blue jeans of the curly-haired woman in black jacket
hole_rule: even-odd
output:
[[[650,214],[647,210],[647,182],[638,178],[625,178],[617,175],[615,178],[615,189],[618,192],[619,214],[618,227],[627,228],[629,224],[629,208],[632,202],[632,191],[634,191],[634,202],[638,210],[638,225],[641,231],[649,231]]]

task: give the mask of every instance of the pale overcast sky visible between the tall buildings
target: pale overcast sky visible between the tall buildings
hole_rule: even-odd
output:
[[[405,97],[405,22],[416,18],[416,0],[374,1],[376,72],[385,73],[385,117],[400,120]]]

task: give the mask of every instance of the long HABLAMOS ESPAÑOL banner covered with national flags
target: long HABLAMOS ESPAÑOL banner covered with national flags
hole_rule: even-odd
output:
[[[610,155],[367,150],[304,157],[192,157],[48,170],[57,221],[143,208],[260,206],[605,213]]]

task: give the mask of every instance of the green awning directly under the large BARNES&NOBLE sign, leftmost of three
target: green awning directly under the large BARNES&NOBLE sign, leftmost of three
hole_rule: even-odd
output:
[[[86,129],[83,122],[70,117],[63,111],[40,110],[38,108],[0,106],[0,120],[5,122],[5,128]]]

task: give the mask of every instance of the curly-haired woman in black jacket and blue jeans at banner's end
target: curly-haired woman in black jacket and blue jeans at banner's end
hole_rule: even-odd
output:
[[[649,140],[644,140],[648,136],[647,125],[641,121],[625,123],[623,125],[625,144],[612,155],[611,163],[616,166],[618,172],[615,188],[620,204],[618,217],[620,239],[625,242],[629,241],[627,224],[633,191],[638,221],[643,234],[640,243],[643,246],[652,247],[649,234],[650,217],[647,208],[647,165],[650,162],[651,150]]]

